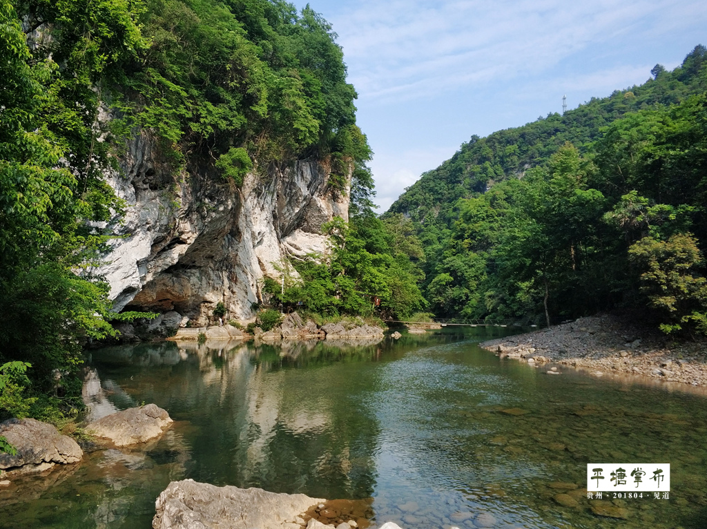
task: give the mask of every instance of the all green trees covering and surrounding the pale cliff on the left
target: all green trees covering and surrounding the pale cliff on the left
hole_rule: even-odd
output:
[[[353,170],[351,224],[329,228],[334,264],[298,263],[310,281],[289,281],[286,296],[329,315],[372,313],[370,291],[385,310],[423,305],[408,258],[421,250],[371,211],[356,92],[310,8],[0,0],[0,35],[0,420],[76,414],[83,346],[145,316],[112,313],[90,273],[124,210],[106,171],[141,131],[175,179],[198,163],[239,186],[248,171],[315,158],[341,191]]]

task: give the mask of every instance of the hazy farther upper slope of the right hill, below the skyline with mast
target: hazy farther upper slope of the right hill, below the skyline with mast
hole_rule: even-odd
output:
[[[546,118],[513,129],[472,136],[452,158],[421,178],[390,206],[414,221],[448,225],[457,199],[484,192],[494,183],[517,177],[535,165],[547,163],[566,141],[586,151],[600,136],[600,129],[628,112],[656,105],[679,103],[707,90],[707,51],[699,45],[673,71],[656,64],[641,86],[614,91],[607,98],[592,98],[564,115]]]

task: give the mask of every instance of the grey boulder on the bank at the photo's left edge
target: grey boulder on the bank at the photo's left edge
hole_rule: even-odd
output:
[[[83,450],[51,424],[35,419],[7,419],[0,423],[0,436],[17,449],[16,455],[0,453],[0,470],[8,476],[42,472],[57,464],[77,463]]]

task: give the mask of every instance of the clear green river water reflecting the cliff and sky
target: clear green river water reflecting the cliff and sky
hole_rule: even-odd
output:
[[[549,376],[477,346],[509,331],[92,351],[96,415],[155,402],[175,424],[0,489],[0,527],[148,529],[158,494],[192,478],[372,498],[375,525],[404,529],[707,528],[707,397]],[[592,503],[587,463],[670,463],[669,498]]]

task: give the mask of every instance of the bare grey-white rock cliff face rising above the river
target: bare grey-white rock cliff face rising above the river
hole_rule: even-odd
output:
[[[127,214],[98,273],[115,310],[162,314],[153,326],[205,325],[219,301],[229,318],[252,318],[264,275],[279,277],[287,255],[325,251],[322,223],[348,220],[349,185],[333,190],[313,159],[250,173],[239,188],[199,165],[175,178],[143,133],[121,169],[110,184]]]

